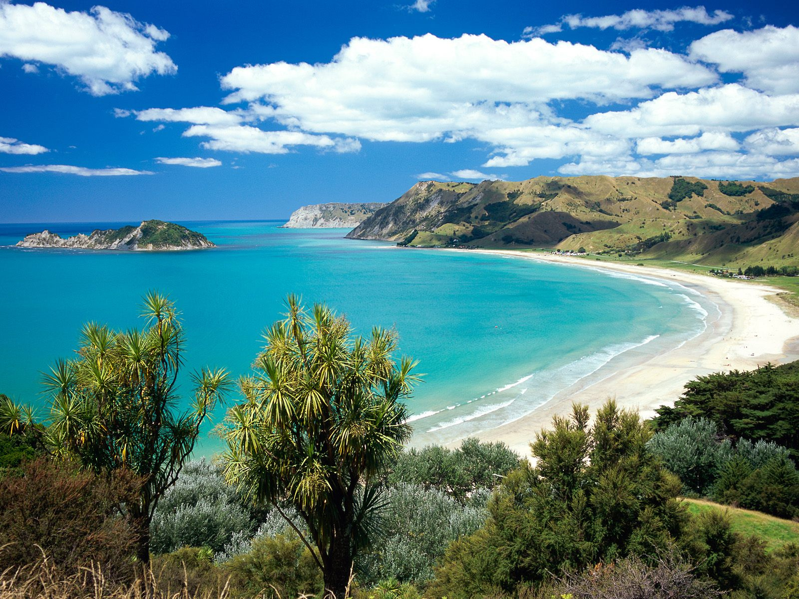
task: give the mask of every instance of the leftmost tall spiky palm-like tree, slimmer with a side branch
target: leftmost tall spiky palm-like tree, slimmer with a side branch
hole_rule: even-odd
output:
[[[44,376],[50,395],[50,450],[77,457],[97,473],[128,469],[141,478],[138,502],[125,513],[140,534],[137,557],[149,561],[149,524],[158,499],[177,480],[200,426],[230,387],[224,370],[192,375],[193,403],[177,410],[177,378],[185,334],[172,301],[149,292],[146,327],[113,331],[86,324],[75,359],[58,360]]]

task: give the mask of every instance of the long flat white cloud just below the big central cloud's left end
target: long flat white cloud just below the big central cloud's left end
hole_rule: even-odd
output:
[[[337,153],[360,150],[360,141],[356,139],[332,138],[300,131],[264,131],[249,125],[193,125],[183,135],[210,137],[211,141],[201,143],[203,148],[229,152],[284,154],[295,145],[310,145]]]

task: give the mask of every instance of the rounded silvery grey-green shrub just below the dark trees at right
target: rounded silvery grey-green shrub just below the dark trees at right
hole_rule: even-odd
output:
[[[713,492],[718,473],[733,455],[716,423],[704,418],[682,419],[654,434],[646,446],[678,475],[684,492],[701,495]]]

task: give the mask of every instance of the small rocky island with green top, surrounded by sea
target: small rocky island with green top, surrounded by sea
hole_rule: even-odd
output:
[[[21,248],[75,248],[102,250],[185,250],[215,248],[205,235],[180,224],[163,220],[142,220],[138,227],[127,226],[105,231],[95,229],[90,235],[61,236],[42,231],[25,237]]]

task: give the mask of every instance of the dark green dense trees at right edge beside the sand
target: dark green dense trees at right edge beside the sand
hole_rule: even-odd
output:
[[[716,372],[686,384],[674,407],[662,406],[654,419],[656,430],[687,416],[716,422],[733,442],[765,439],[799,455],[799,362],[755,371]]]

